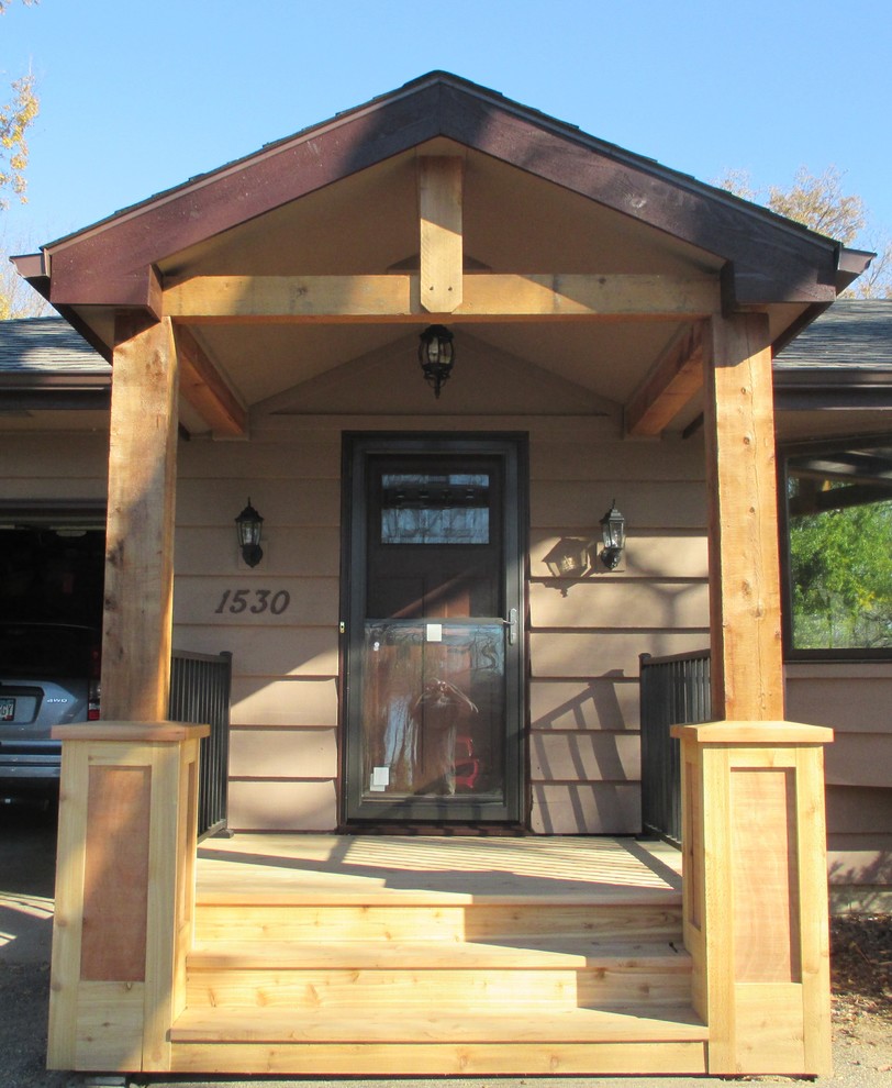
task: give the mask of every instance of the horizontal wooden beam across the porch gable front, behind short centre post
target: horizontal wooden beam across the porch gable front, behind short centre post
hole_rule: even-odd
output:
[[[168,287],[165,313],[189,324],[252,321],[416,323],[421,277],[197,276]],[[638,318],[677,321],[720,310],[720,289],[709,276],[603,276],[472,274],[464,301],[445,320],[492,321]]]

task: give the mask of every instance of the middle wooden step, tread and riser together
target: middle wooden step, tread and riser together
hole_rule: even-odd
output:
[[[690,1000],[691,961],[665,945],[575,950],[428,943],[267,946],[193,953],[187,1004],[294,1010],[477,1010],[678,1006]]]

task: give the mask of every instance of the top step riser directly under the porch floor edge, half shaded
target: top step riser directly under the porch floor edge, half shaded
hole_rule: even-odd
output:
[[[196,941],[495,941],[567,935],[603,941],[661,939],[680,943],[673,908],[565,907],[255,907],[202,906]]]

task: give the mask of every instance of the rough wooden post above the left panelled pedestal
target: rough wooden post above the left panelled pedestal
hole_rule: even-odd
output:
[[[169,319],[115,323],[102,717],[167,717],[174,595],[177,354]]]

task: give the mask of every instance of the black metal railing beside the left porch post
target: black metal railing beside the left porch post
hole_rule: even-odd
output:
[[[191,654],[175,650],[170,668],[171,722],[210,725],[202,737],[198,771],[199,837],[226,826],[230,775],[230,695],[232,654]]]

